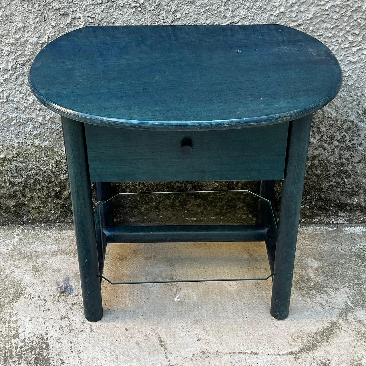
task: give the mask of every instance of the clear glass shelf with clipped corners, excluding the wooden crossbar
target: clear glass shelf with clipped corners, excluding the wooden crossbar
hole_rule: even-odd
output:
[[[121,193],[98,203],[98,209],[109,217],[102,229],[134,231],[141,227],[149,231],[147,226],[166,225],[198,230],[199,225],[232,225],[235,229],[262,224],[277,231],[270,201],[247,190]],[[103,278],[112,284],[265,280],[272,276],[263,242],[113,242],[106,245],[104,255]]]

